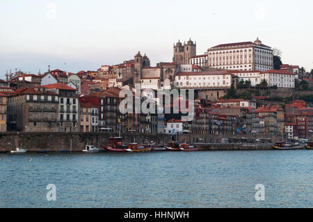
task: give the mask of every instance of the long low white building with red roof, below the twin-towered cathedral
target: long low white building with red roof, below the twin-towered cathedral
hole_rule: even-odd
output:
[[[178,72],[175,88],[230,88],[232,74],[227,71]]]

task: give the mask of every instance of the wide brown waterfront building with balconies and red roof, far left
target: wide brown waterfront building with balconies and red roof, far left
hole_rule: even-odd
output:
[[[8,99],[8,131],[58,132],[58,94],[44,86],[16,90]]]

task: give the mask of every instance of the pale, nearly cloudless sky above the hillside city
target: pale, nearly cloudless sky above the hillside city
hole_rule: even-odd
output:
[[[282,62],[313,69],[313,1],[0,0],[0,79],[97,70],[147,54],[172,61],[173,44],[197,54],[223,43],[254,41],[282,51]]]

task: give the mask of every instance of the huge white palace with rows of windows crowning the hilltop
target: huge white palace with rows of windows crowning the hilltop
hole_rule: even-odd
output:
[[[273,49],[257,38],[255,42],[236,42],[211,47],[208,66],[227,70],[273,70]]]

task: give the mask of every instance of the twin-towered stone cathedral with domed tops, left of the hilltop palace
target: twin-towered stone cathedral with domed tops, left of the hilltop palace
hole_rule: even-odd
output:
[[[196,55],[196,44],[191,39],[187,43],[184,42],[184,45],[178,40],[176,45],[174,43],[173,49],[174,56],[172,61],[177,65],[190,64],[190,58]]]

